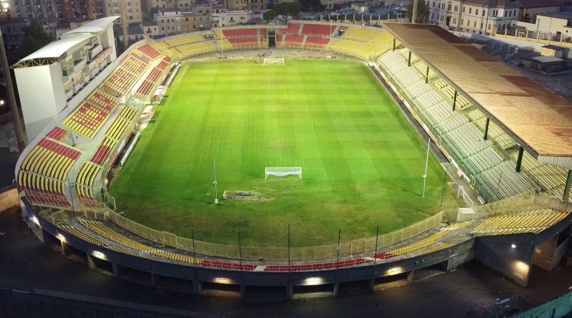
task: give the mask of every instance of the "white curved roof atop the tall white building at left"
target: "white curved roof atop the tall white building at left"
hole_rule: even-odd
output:
[[[75,46],[82,46],[84,42],[89,38],[96,35],[94,34],[78,34],[74,37],[67,37],[58,39],[48,45],[42,47],[41,49],[35,51],[34,53],[22,58],[14,65],[14,67],[25,67],[25,66],[37,66],[42,65],[41,60],[45,59],[59,59],[63,54],[65,54],[70,49]],[[31,61],[36,61],[37,63],[27,63]]]

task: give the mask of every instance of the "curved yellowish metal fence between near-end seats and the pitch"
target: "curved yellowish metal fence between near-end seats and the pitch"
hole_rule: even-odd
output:
[[[541,193],[524,193],[506,200],[474,206],[471,208],[444,209],[423,221],[417,222],[406,228],[395,230],[377,237],[360,238],[358,240],[341,241],[339,244],[339,256],[351,256],[384,252],[384,248],[398,244],[408,238],[412,238],[427,230],[436,228],[442,222],[467,221],[475,218],[487,218],[501,216],[507,213],[517,213],[525,210],[539,208],[553,208],[556,210],[572,210],[572,204],[555,200]],[[66,213],[73,213],[67,215]],[[337,257],[338,245],[317,245],[311,247],[244,247],[239,245],[226,245],[209,243],[192,238],[177,236],[176,234],[152,229],[149,226],[139,224],[126,218],[109,208],[86,209],[81,212],[67,212],[59,210],[50,212],[45,210],[40,215],[53,224],[69,224],[70,218],[83,217],[96,220],[110,220],[138,236],[148,240],[167,245],[169,247],[196,252],[200,255],[225,257],[242,260],[265,260],[265,261],[304,261],[327,259]]]

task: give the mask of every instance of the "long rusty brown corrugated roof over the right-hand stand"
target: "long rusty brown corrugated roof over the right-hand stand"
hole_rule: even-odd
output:
[[[436,25],[382,23],[539,161],[572,169],[572,102]]]

